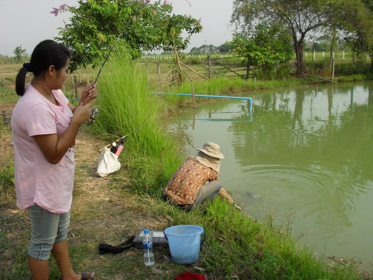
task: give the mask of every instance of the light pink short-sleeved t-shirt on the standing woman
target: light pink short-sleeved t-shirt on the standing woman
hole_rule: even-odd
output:
[[[52,91],[58,105],[27,85],[11,117],[14,146],[14,177],[17,205],[24,209],[36,203],[53,213],[70,210],[74,186],[74,147],[58,164],[50,164],[35,142],[34,135],[61,135],[73,112],[61,90]]]

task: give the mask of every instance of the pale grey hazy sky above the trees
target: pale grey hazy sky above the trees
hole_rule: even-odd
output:
[[[201,19],[203,30],[192,35],[187,52],[205,43],[220,46],[232,39],[233,27],[229,21],[233,0],[168,1],[172,2],[173,13]],[[57,28],[63,27],[64,20],[68,22],[71,16],[69,12],[54,16],[50,13],[53,7],[77,3],[77,0],[0,0],[0,54],[14,56],[14,49],[21,46],[31,55],[40,41],[58,36]]]

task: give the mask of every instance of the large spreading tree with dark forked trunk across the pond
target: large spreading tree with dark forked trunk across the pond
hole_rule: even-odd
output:
[[[334,0],[234,0],[231,22],[243,32],[258,22],[281,23],[291,34],[299,73],[305,70],[303,44],[306,36],[328,25],[333,8]]]

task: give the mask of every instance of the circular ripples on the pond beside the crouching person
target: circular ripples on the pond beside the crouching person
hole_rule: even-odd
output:
[[[344,174],[323,170],[317,165],[309,168],[257,165],[242,174],[237,190],[244,204],[266,203],[267,207],[296,211],[298,215],[314,219],[324,218],[325,213],[348,219],[349,213],[356,209],[356,196],[362,194],[359,186],[352,186]]]

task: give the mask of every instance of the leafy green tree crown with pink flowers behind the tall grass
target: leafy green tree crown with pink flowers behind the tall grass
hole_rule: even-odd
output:
[[[190,16],[175,15],[173,7],[165,0],[79,0],[78,6],[61,5],[59,11],[70,11],[70,23],[60,28],[59,37],[72,51],[70,71],[78,66],[93,67],[102,63],[117,38],[128,47],[130,55],[137,58],[142,51],[163,48],[170,51],[185,49],[190,35],[200,32],[199,20]],[[123,31],[123,32],[122,32]],[[188,33],[182,38],[183,31]],[[173,51],[173,50],[172,50]]]

